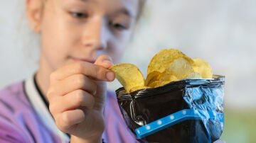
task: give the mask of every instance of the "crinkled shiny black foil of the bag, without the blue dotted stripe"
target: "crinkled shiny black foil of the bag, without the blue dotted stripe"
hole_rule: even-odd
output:
[[[144,137],[148,142],[214,142],[223,132],[224,76],[213,79],[186,79],[158,88],[147,88],[126,93],[117,89],[117,101],[124,120],[132,132],[150,122],[183,109],[203,110],[201,120],[185,120]],[[205,118],[207,111],[215,118]]]

